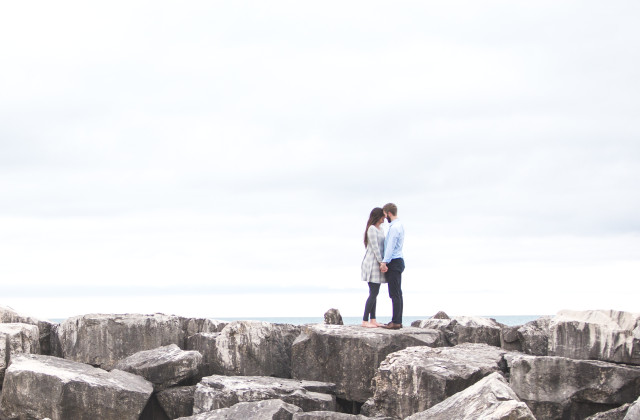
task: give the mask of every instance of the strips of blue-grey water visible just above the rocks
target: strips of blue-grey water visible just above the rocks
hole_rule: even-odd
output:
[[[483,316],[483,318],[493,318],[496,321],[509,325],[522,325],[527,322],[534,321],[540,318],[542,315],[490,315]],[[421,319],[429,319],[431,316],[404,316],[402,319],[402,324],[405,326],[410,326],[413,321],[421,320]],[[273,322],[275,324],[293,324],[293,325],[304,325],[304,324],[318,324],[324,322],[324,317],[321,316],[298,316],[298,317],[237,317],[237,318],[217,318],[213,317],[212,319],[217,319],[220,321],[265,321],[265,322]],[[64,321],[64,318],[52,318],[51,322],[60,323]],[[357,316],[343,316],[342,321],[345,325],[358,325],[362,322],[361,317]],[[387,323],[391,321],[391,317],[378,317],[378,322]]]

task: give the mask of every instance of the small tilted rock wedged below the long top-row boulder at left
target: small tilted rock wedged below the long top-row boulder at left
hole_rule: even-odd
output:
[[[140,375],[161,391],[196,377],[202,364],[197,351],[184,351],[175,344],[135,353],[119,361],[115,368]]]

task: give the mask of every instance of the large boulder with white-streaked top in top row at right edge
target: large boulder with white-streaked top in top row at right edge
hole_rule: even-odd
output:
[[[640,365],[640,314],[565,310],[549,330],[550,356]]]

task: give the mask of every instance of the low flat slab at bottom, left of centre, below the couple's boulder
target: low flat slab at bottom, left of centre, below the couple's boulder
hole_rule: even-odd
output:
[[[222,376],[203,378],[196,386],[193,412],[200,414],[239,402],[281,399],[304,411],[335,411],[335,386],[330,383],[298,381],[265,376]]]

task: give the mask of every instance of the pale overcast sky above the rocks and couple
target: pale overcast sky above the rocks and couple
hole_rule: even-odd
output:
[[[3,2],[0,305],[640,312],[635,1]],[[378,316],[390,316],[387,288]]]

